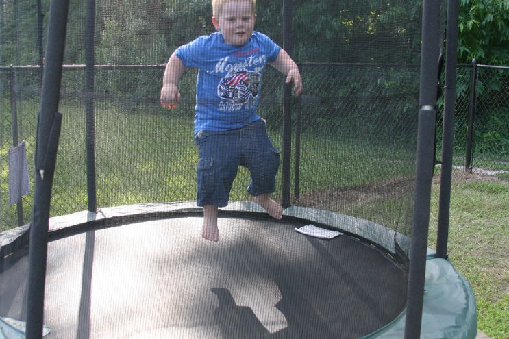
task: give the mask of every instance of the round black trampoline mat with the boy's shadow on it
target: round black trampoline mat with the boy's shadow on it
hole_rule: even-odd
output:
[[[403,271],[303,224],[169,218],[49,242],[47,338],[358,338],[406,306]],[[0,316],[25,320],[27,256],[1,273]]]

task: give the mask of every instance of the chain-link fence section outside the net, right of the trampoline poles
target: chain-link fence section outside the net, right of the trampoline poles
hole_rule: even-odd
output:
[[[443,108],[440,99],[439,108]],[[440,160],[442,114],[437,123]],[[458,65],[454,123],[456,168],[509,179],[509,67]]]

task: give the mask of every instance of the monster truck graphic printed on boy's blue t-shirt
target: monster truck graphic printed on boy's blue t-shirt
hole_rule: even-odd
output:
[[[256,98],[259,90],[260,74],[248,71],[230,71],[217,86],[219,97],[229,99],[234,103],[247,103],[249,95]]]

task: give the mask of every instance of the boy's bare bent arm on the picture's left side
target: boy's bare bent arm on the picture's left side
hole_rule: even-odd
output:
[[[177,84],[186,66],[175,53],[173,53],[166,64],[164,76],[162,77],[161,105],[164,108],[176,108],[180,102],[180,92]]]

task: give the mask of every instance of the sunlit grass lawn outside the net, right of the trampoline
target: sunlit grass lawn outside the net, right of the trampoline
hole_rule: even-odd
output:
[[[436,245],[440,178],[432,186],[430,248]],[[509,181],[455,171],[451,185],[448,254],[471,284],[477,327],[509,338]]]

